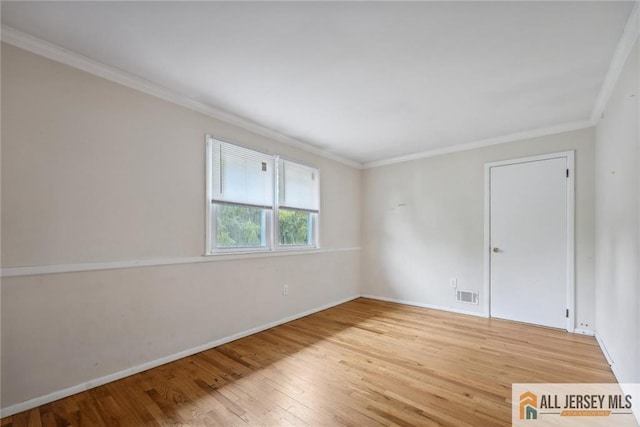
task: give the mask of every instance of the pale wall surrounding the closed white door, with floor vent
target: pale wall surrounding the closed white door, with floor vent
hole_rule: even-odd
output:
[[[593,330],[593,128],[439,155],[364,173],[363,293],[483,312],[484,164],[576,152],[576,327]],[[480,291],[480,305],[455,301]]]

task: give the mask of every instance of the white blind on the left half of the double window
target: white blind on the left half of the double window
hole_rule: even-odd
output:
[[[273,207],[273,156],[209,137],[211,198],[222,203]]]

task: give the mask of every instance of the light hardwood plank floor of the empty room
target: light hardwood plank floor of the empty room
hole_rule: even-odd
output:
[[[2,426],[511,424],[514,382],[615,382],[591,337],[360,298]]]

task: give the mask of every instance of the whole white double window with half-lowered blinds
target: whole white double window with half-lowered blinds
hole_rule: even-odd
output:
[[[318,247],[317,169],[207,135],[206,253]]]

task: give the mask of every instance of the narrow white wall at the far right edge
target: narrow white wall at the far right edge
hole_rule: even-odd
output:
[[[621,382],[640,382],[640,44],[596,128],[596,318]]]

